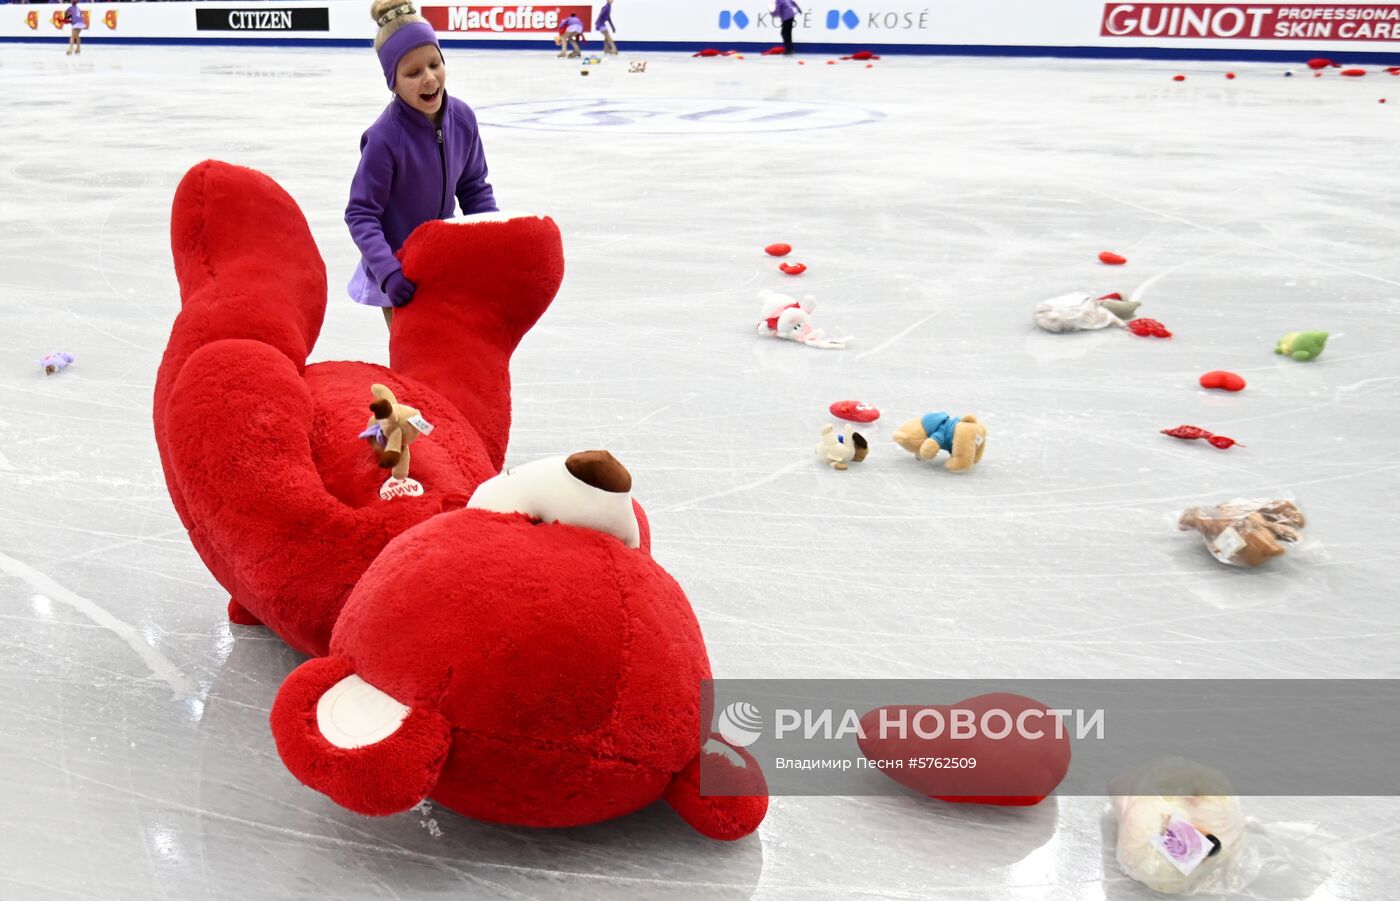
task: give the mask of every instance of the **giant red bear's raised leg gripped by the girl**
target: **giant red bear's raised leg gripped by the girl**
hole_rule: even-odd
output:
[[[451,400],[500,469],[511,428],[511,354],[564,277],[559,227],[533,215],[424,222],[403,245],[403,274],[419,290],[393,316],[391,368]]]

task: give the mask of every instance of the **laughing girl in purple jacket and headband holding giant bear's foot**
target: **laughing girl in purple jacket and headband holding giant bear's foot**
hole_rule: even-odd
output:
[[[393,101],[360,139],[360,168],[350,183],[346,224],[363,259],[350,297],[384,308],[413,299],[395,253],[428,220],[452,218],[454,196],[463,214],[496,210],[486,180],[486,152],[476,113],[447,95],[447,64],[433,27],[406,0],[374,0],[379,25],[374,49]]]

